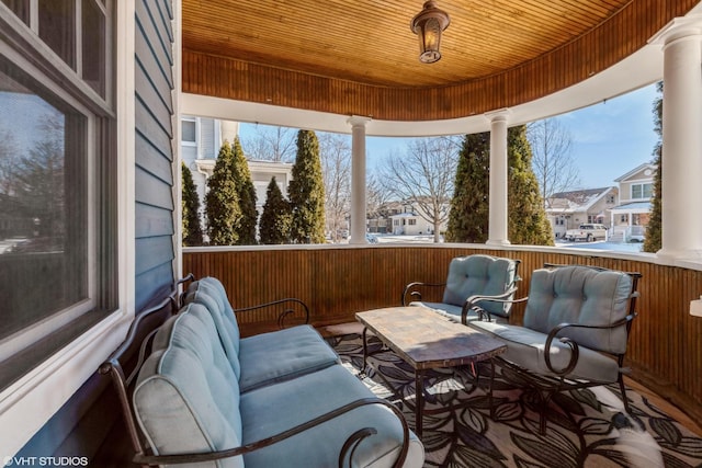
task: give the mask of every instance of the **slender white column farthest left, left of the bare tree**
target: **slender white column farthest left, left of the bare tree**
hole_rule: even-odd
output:
[[[363,244],[365,240],[365,125],[370,118],[353,116],[351,125],[351,239],[349,243]]]

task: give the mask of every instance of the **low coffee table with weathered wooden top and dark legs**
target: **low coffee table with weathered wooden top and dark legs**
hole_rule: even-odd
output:
[[[375,334],[415,369],[415,432],[421,438],[424,409],[424,372],[488,361],[492,366],[488,398],[492,411],[492,357],[507,350],[499,340],[454,323],[424,307],[389,307],[358,312],[363,326],[363,370],[367,365],[367,331]],[[380,374],[380,373],[378,373]]]

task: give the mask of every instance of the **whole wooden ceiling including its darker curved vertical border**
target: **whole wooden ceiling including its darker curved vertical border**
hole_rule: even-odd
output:
[[[520,79],[529,85],[540,81],[535,83],[537,91],[494,103],[511,105],[601,71],[645,45],[657,28],[695,3],[437,0],[437,7],[451,16],[451,24],[442,37],[442,59],[427,65],[418,59],[417,36],[409,27],[421,1],[183,0],[183,88],[229,99],[411,119],[411,112],[394,115],[388,107],[401,107],[398,104],[407,101],[407,92],[412,90],[485,93],[494,85],[503,87],[500,77],[516,70],[541,73]],[[562,54],[564,50],[570,56]],[[587,70],[578,67],[586,61]],[[563,70],[565,79],[557,75],[562,65],[568,67]],[[544,83],[546,79],[558,83]],[[278,87],[280,81],[286,82],[290,96],[274,95],[281,93],[273,89],[276,81]],[[485,84],[475,87],[478,82]],[[320,83],[331,90],[326,103],[301,94],[314,93]],[[465,85],[473,88],[461,88]],[[336,100],[347,99],[344,93],[347,98],[356,95],[356,102],[335,105]],[[360,102],[359,93],[367,94],[374,103]],[[437,110],[430,118],[483,112],[485,106]]]

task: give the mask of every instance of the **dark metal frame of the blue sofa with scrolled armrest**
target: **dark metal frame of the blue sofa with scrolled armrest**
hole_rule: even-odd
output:
[[[178,281],[177,287],[178,285],[191,279],[193,279],[193,276],[192,274],[189,274],[186,277]],[[111,377],[114,389],[117,392],[117,398],[120,400],[120,408],[124,416],[127,432],[129,433],[132,448],[135,452],[135,455],[133,457],[133,461],[135,464],[138,464],[141,467],[151,467],[151,466],[160,466],[160,465],[195,464],[195,463],[213,461],[213,460],[218,460],[224,458],[236,457],[239,455],[248,454],[248,453],[268,447],[281,441],[285,441],[294,435],[301,434],[312,427],[324,424],[325,422],[328,422],[335,418],[338,418],[344,413],[348,413],[349,411],[352,411],[356,408],[369,406],[369,404],[380,404],[393,411],[397,415],[398,420],[400,421],[400,424],[403,427],[403,448],[399,453],[397,460],[393,466],[399,468],[404,465],[405,459],[407,458],[407,453],[409,452],[409,425],[407,424],[407,421],[405,420],[405,416],[403,415],[399,409],[397,409],[390,402],[381,398],[363,398],[363,399],[355,400],[343,407],[340,407],[325,414],[321,414],[303,424],[296,425],[294,427],[280,432],[278,434],[273,434],[270,437],[263,438],[261,441],[242,445],[240,447],[233,447],[229,449],[211,452],[211,453],[154,455],[151,450],[148,448],[148,444],[145,442],[146,437],[141,433],[141,430],[136,420],[136,415],[132,410],[132,395],[134,390],[134,384],[135,384],[136,377],[138,376],[139,369],[141,368],[141,365],[144,364],[144,362],[149,355],[152,339],[156,335],[156,332],[159,330],[160,326],[167,320],[167,318],[161,320],[156,328],[152,328],[150,331],[146,333],[146,338],[141,341],[139,345],[139,352],[136,358],[136,364],[134,365],[134,368],[128,376],[126,376],[124,372],[123,363],[126,364],[132,358],[132,354],[133,354],[132,351],[138,344],[136,342],[137,336],[139,336],[141,333],[145,332],[145,330],[141,330],[143,328],[148,327],[148,326],[145,326],[145,322],[148,321],[147,318],[151,318],[151,316],[156,316],[159,312],[163,313],[163,311],[167,310],[169,306],[171,308],[170,309],[171,311],[177,310],[176,306],[177,304],[180,303],[176,300],[176,296],[178,294],[177,287],[176,287],[176,290],[173,290],[173,293],[168,298],[163,299],[161,303],[159,303],[155,307],[147,309],[135,317],[134,321],[129,327],[129,331],[127,332],[127,336],[125,338],[124,342],[120,345],[120,347],[117,347],[110,355],[110,357],[107,357],[107,359],[98,369],[98,372],[101,375],[109,375]],[[181,297],[181,300],[182,300],[182,297]],[[281,300],[268,303],[264,305],[237,309],[237,311],[254,310],[254,309],[259,309],[261,307],[265,307],[270,305],[282,304],[287,300],[293,300],[304,305],[304,303],[299,299],[281,299]],[[307,318],[308,318],[309,310],[306,305],[305,305],[305,310],[307,311]],[[286,315],[288,313],[284,311],[283,316],[286,316]],[[170,317],[170,315],[168,316]],[[282,323],[282,320],[280,318],[279,318],[279,323]],[[343,446],[340,448],[339,467],[342,468],[346,460],[348,460],[348,466],[351,467],[353,454],[358,445],[364,438],[370,437],[376,433],[377,431],[374,427],[361,427],[358,431],[355,431],[352,435],[350,435],[347,438]]]

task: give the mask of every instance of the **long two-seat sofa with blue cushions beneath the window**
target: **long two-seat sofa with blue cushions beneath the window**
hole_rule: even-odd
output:
[[[241,339],[222,284],[194,282],[158,328],[132,398],[141,465],[421,467],[399,410],[309,326]]]

